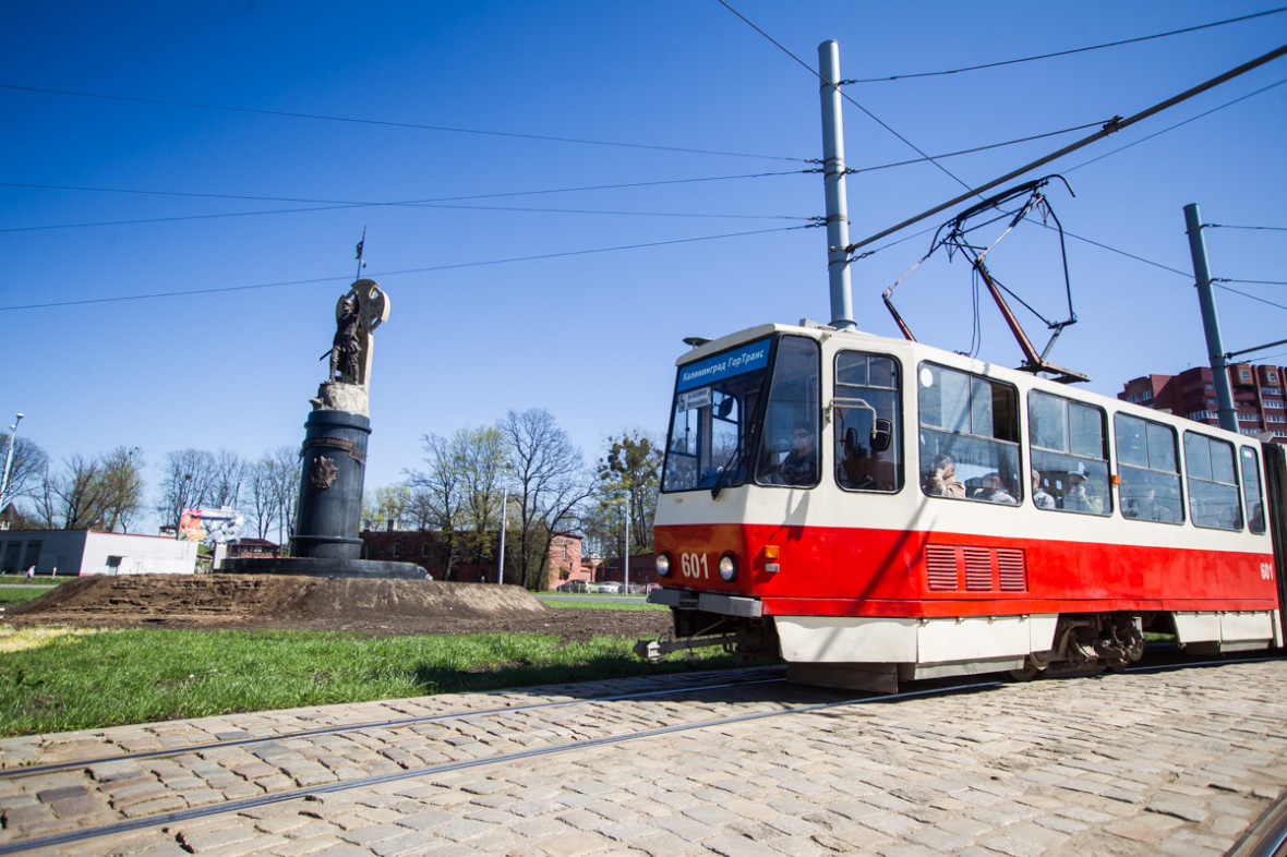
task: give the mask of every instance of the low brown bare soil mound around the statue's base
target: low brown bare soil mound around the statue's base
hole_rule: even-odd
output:
[[[12,607],[13,625],[301,628],[382,634],[530,632],[656,637],[663,611],[555,610],[521,587],[275,574],[85,576]]]

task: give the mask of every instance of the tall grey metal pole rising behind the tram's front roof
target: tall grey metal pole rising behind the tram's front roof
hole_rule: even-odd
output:
[[[844,193],[844,127],[840,116],[840,46],[817,46],[822,77],[822,188],[826,192],[826,273],[831,284],[831,326],[857,327],[849,283],[849,210]]]

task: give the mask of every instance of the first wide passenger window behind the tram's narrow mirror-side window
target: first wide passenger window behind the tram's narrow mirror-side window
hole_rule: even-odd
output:
[[[932,363],[919,371],[920,486],[932,497],[1017,506],[1018,391]]]

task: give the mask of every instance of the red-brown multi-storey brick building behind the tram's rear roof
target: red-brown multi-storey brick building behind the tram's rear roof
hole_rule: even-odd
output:
[[[1237,363],[1228,367],[1238,431],[1243,435],[1272,432],[1274,443],[1287,444],[1287,396],[1284,369],[1277,365]],[[1147,374],[1127,381],[1118,399],[1219,426],[1219,405],[1211,367],[1193,367],[1179,374]]]

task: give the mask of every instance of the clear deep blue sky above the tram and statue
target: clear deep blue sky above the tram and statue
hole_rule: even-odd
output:
[[[366,228],[364,275],[393,301],[367,488],[422,466],[421,435],[511,408],[547,408],[593,459],[622,428],[664,431],[685,336],[830,315],[825,235],[792,229],[824,212],[802,172],[821,152],[817,81],[786,51],[816,67],[835,39],[844,77],[888,77],[1275,8],[731,5],[781,48],[717,0],[6,4],[0,414],[23,412],[55,459],[138,445],[153,484],[169,450],[299,444]],[[1130,116],[1284,41],[1287,13],[846,93],[940,154]],[[1093,390],[1206,362],[1183,206],[1287,226],[1287,85],[1251,95],[1284,78],[1275,60],[1039,171],[1077,194],[1051,189],[1064,228],[1112,248],[1068,241],[1080,320],[1050,355]],[[844,124],[851,167],[918,157],[852,104]],[[941,163],[978,185],[1085,134]],[[645,187],[571,190],[627,184]],[[928,163],[849,176],[851,235],[960,189]],[[391,205],[430,199],[450,202]],[[880,293],[946,219],[852,266],[862,329],[897,335]],[[1207,246],[1215,277],[1287,279],[1287,233],[1210,230]],[[1049,233],[1018,230],[991,264],[1066,311]],[[1281,286],[1230,287],[1254,297],[1218,291],[1227,349],[1284,338]],[[976,337],[959,260],[923,265],[896,302],[921,341],[1019,362],[990,305]]]

